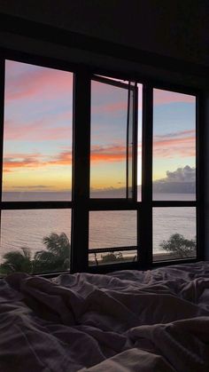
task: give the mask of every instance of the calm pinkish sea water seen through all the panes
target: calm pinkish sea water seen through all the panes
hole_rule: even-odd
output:
[[[156,195],[162,200],[194,200],[193,194]],[[69,193],[4,193],[4,200],[70,200]],[[142,216],[143,218],[143,216]],[[71,210],[3,210],[0,258],[5,252],[30,247],[32,252],[43,249],[43,237],[50,233],[66,233],[71,237]],[[172,233],[188,239],[196,236],[195,208],[155,208],[153,210],[153,246]],[[124,211],[92,211],[89,215],[89,248],[135,246],[136,213]]]

